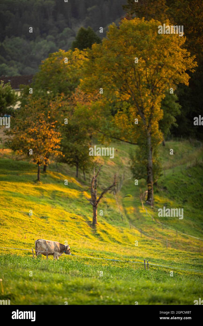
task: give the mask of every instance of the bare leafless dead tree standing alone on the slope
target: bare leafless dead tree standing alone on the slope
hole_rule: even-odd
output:
[[[91,192],[91,199],[87,199],[87,200],[89,200],[90,204],[93,206],[93,220],[92,220],[93,226],[95,224],[97,224],[97,206],[98,206],[99,201],[103,198],[103,196],[106,194],[107,191],[109,191],[111,188],[115,187],[115,185],[116,185],[116,174],[114,174],[113,184],[110,185],[109,187],[103,189],[102,193],[97,198],[97,177],[99,175],[101,167],[102,167],[102,165],[100,166],[96,175],[95,175],[95,168],[94,168],[94,174],[93,174],[93,178],[92,178],[89,188],[87,190],[82,190],[82,191],[90,190],[90,192]]]

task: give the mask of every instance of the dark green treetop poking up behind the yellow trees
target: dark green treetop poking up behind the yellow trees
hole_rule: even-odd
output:
[[[76,39],[72,43],[72,50],[75,48],[78,48],[79,50],[92,48],[94,43],[101,43],[101,38],[94,33],[90,26],[88,26],[87,29],[80,27]]]

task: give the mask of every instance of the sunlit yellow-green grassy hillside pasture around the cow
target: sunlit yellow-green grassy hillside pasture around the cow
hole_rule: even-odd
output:
[[[82,175],[76,180],[74,168],[54,163],[38,183],[35,165],[1,150],[0,246],[31,249],[38,238],[67,240],[71,253],[82,257],[33,259],[31,251],[0,248],[0,299],[10,299],[11,304],[194,304],[203,296],[203,274],[155,265],[145,271],[143,259],[203,271],[203,241],[196,239],[203,239],[203,165],[202,150],[195,145],[169,141],[160,147],[165,173],[154,189],[154,208],[144,204],[142,209],[139,188],[145,184],[139,180],[134,185],[129,169],[129,151],[136,146],[111,144],[114,159],[98,158],[104,164],[99,192],[111,184],[115,172],[120,191],[99,203],[95,228],[90,194],[80,192],[87,188],[89,175],[86,182]],[[158,208],[163,206],[183,208],[183,219],[159,218]]]

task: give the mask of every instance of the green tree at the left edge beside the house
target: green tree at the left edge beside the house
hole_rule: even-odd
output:
[[[4,85],[4,82],[0,82],[0,114],[10,114],[13,112],[12,106],[15,106],[18,96],[11,88],[10,83]],[[10,107],[11,106],[11,107]]]

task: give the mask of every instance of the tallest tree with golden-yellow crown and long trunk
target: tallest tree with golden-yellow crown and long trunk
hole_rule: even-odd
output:
[[[175,91],[179,83],[188,85],[186,70],[193,72],[196,67],[194,57],[182,48],[185,37],[159,34],[159,25],[158,21],[148,22],[144,18],[123,19],[119,27],[110,25],[102,44],[94,44],[88,50],[89,60],[84,63],[81,82],[86,92],[102,88],[103,96],[116,96],[129,103],[131,114],[124,111],[117,114],[116,123],[122,131],[119,138],[129,141],[130,133],[130,142],[146,141],[147,203],[150,205],[153,205],[153,148],[162,141],[161,101],[168,89]]]

